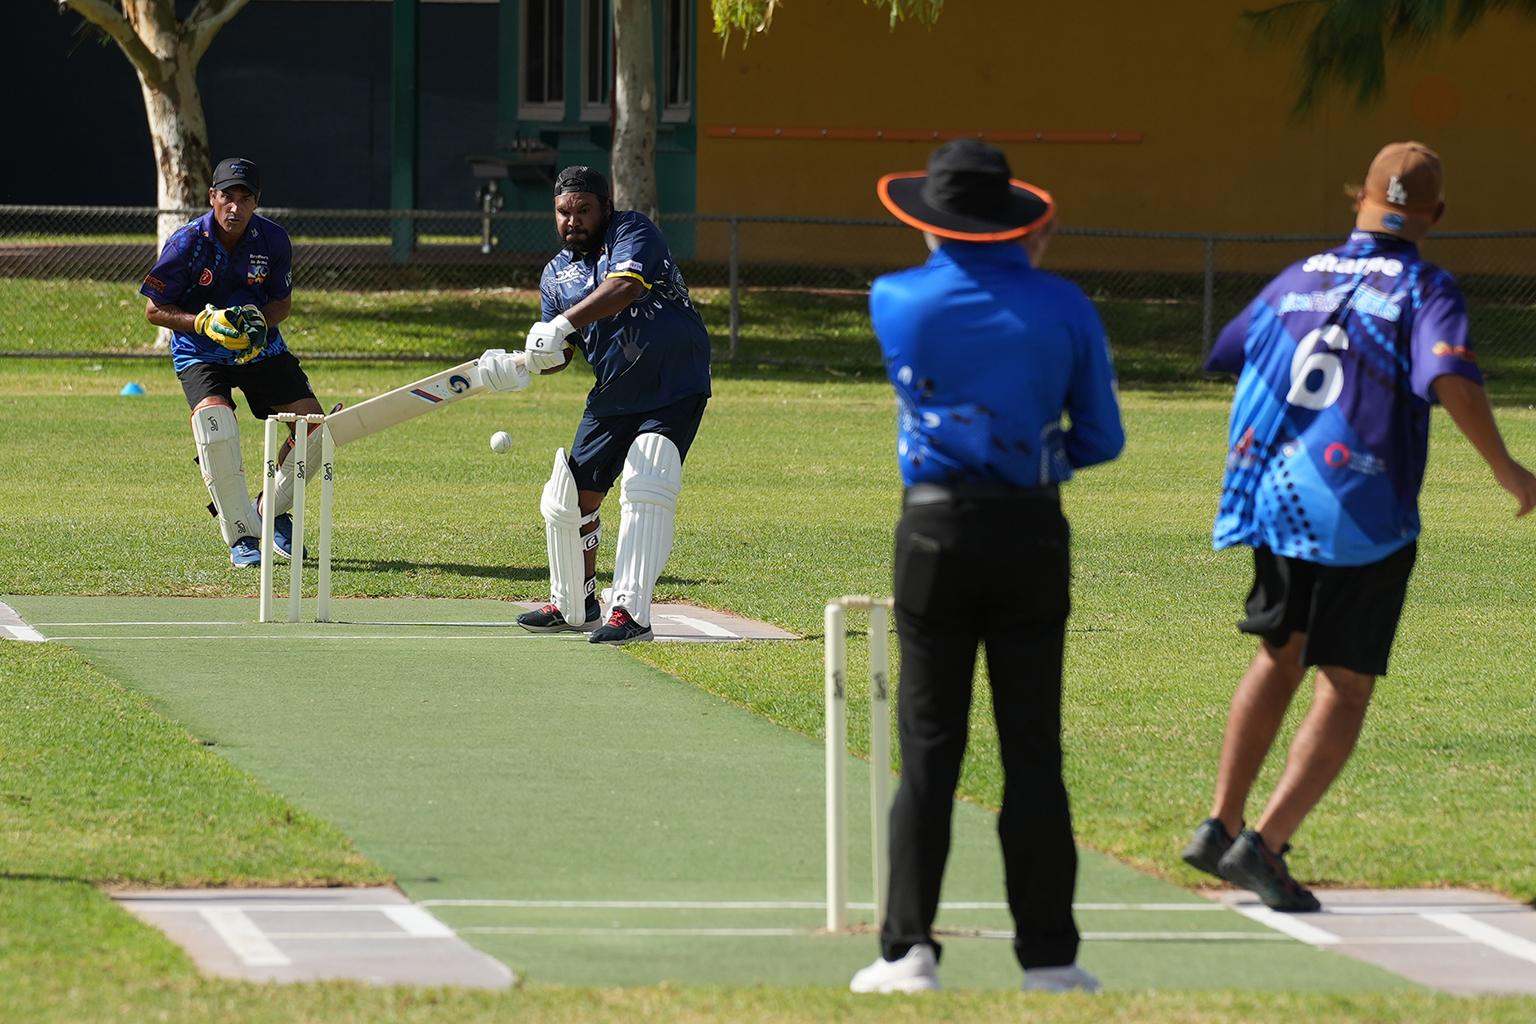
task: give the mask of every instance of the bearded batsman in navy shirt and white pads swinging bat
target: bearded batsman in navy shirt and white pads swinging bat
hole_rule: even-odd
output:
[[[608,180],[573,166],[554,180],[565,247],[539,281],[542,321],[524,353],[485,352],[485,387],[513,391],[559,373],[581,347],[596,382],[570,451],[544,485],[550,602],[518,616],[533,633],[590,631],[593,643],[650,640],[651,594],[673,543],[682,464],[710,401],[710,335],[667,238],[644,213],[614,210]],[[525,367],[522,365],[525,362]],[[619,485],[613,602],[598,600],[598,510]]]

